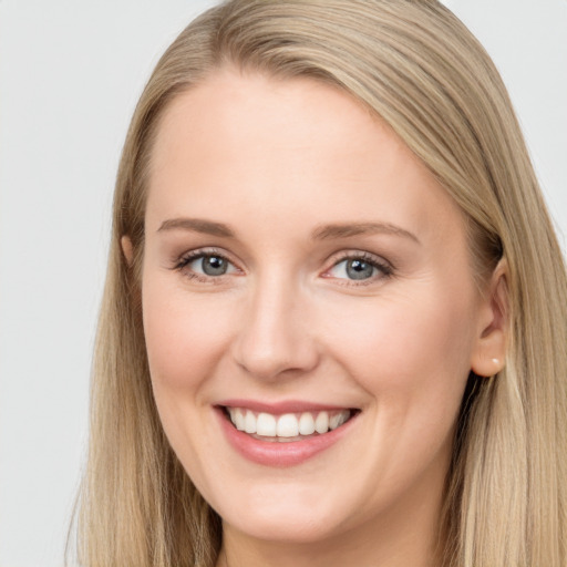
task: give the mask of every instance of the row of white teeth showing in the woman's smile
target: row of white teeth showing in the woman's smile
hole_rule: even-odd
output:
[[[297,437],[336,430],[350,417],[349,410],[338,412],[303,412],[272,415],[270,413],[255,414],[241,408],[228,408],[230,421],[238,431],[257,434],[262,437]]]

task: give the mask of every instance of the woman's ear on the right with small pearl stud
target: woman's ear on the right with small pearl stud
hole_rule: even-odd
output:
[[[492,377],[504,368],[508,338],[507,264],[496,266],[481,302],[476,346],[471,369],[476,375]]]

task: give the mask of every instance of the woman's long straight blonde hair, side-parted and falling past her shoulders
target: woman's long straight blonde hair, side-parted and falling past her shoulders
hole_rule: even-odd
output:
[[[445,563],[567,565],[567,278],[502,80],[435,0],[235,0],[190,23],[157,64],[126,137],[80,494],[85,566],[213,566],[220,520],[163,433],[137,286],[159,117],[221,65],[311,76],[380,115],[468,219],[476,271],[507,262],[506,367],[471,378],[447,475]],[[134,247],[133,267],[121,237]]]

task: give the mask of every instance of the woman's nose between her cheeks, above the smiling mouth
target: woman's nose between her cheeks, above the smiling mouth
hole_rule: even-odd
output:
[[[299,289],[277,275],[258,281],[234,342],[237,364],[261,380],[303,375],[319,362],[315,321]]]

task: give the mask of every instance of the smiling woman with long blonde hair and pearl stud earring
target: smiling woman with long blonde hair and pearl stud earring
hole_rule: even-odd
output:
[[[118,172],[84,565],[563,566],[566,274],[433,0],[236,0]]]

